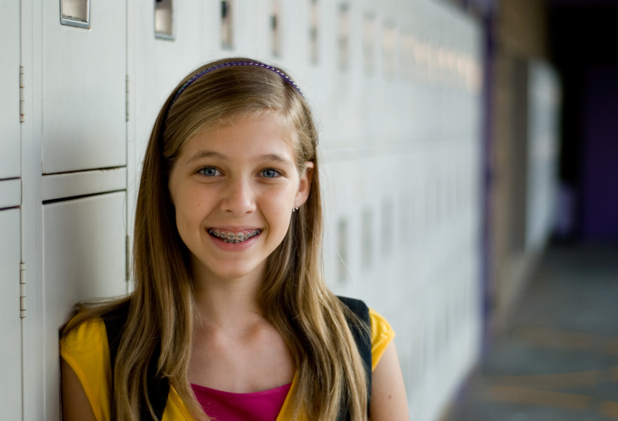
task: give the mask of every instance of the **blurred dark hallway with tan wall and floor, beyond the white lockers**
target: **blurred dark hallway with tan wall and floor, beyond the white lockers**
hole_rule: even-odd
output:
[[[480,362],[443,420],[618,420],[618,4],[495,4],[488,323]],[[514,125],[526,118],[517,86],[530,57],[552,63],[562,98],[554,225],[532,253],[522,228],[535,214],[521,206],[533,170],[512,155],[526,153]]]

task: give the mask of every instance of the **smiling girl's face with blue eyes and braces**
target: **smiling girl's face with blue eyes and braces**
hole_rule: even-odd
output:
[[[298,173],[296,140],[281,120],[241,116],[182,147],[168,187],[197,278],[261,276],[292,208],[307,200],[313,163]]]

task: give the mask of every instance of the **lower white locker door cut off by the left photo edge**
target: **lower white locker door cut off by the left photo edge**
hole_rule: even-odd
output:
[[[19,315],[20,211],[0,211],[0,408],[22,419],[22,323]]]

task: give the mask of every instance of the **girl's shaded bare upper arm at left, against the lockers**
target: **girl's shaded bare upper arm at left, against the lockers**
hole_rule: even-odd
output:
[[[71,368],[61,359],[62,421],[96,421],[95,414],[83,391],[82,383]]]

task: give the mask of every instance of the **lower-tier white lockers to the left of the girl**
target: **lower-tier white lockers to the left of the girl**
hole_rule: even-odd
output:
[[[20,227],[27,223],[22,211],[0,210],[3,419],[22,419],[22,376],[35,367],[41,368],[33,373],[36,386],[25,381],[23,388],[23,404],[29,404],[23,408],[25,419],[57,419],[57,329],[78,300],[127,292],[124,210],[124,192],[43,205],[39,268],[31,261],[20,264]],[[37,281],[41,272],[43,279]],[[20,316],[29,328],[23,332],[23,354]],[[45,400],[36,401],[41,394]]]

